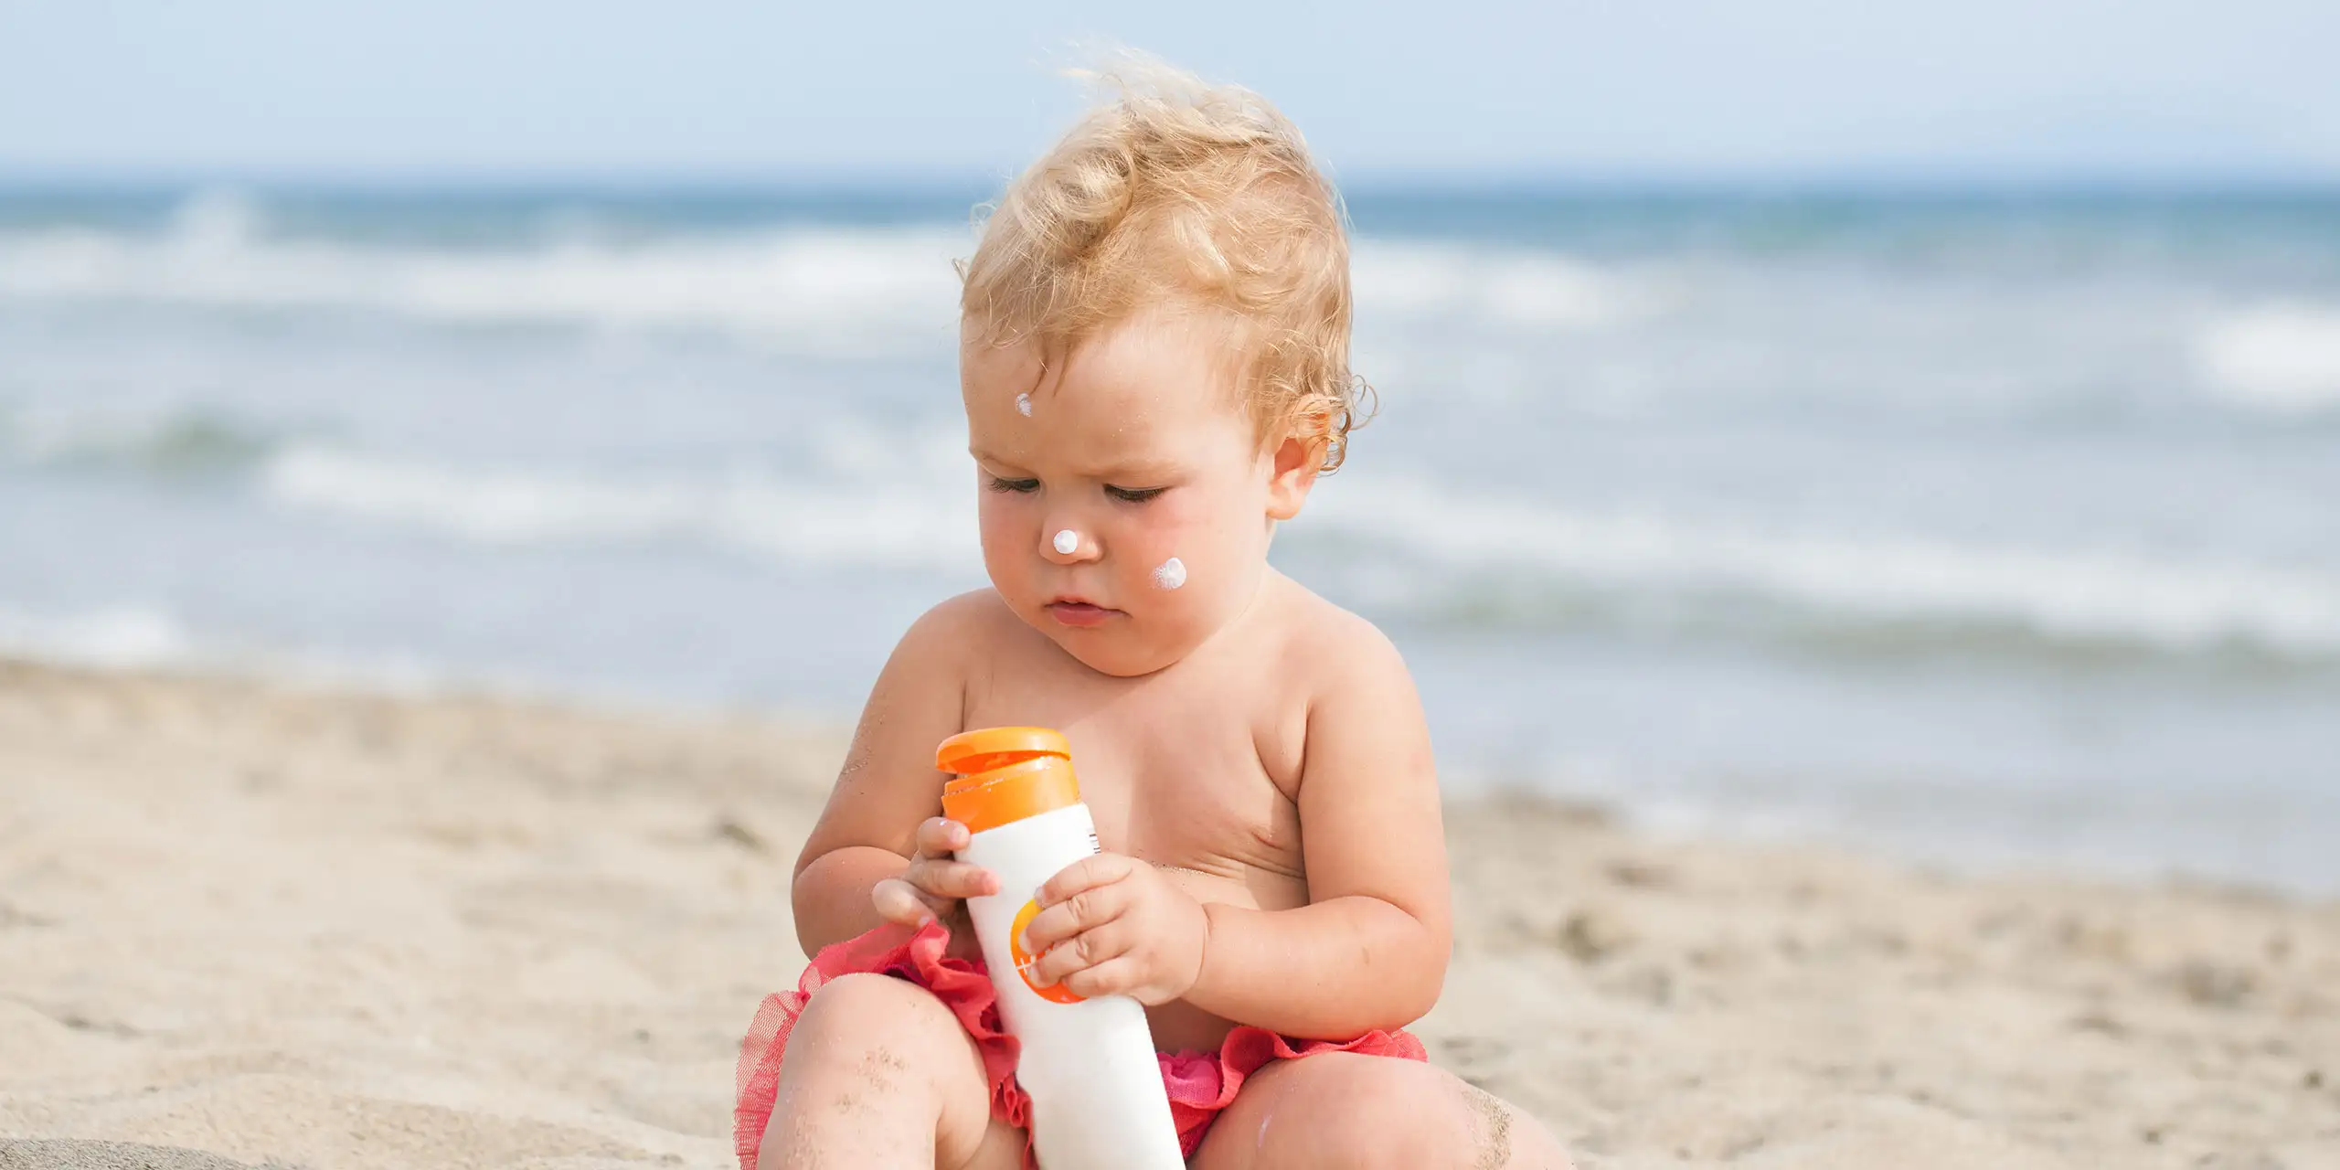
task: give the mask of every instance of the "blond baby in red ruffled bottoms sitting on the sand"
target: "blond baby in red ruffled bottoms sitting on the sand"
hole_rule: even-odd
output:
[[[796,866],[814,955],[739,1065],[739,1161],[1030,1165],[934,749],[1060,728],[1104,852],[1041,892],[1034,983],[1147,1004],[1198,1168],[1563,1168],[1402,1032],[1446,976],[1439,789],[1369,622],[1268,566],[1348,454],[1341,206],[1261,98],[1149,70],[1025,171],[964,264],[992,587],[870,693]],[[1072,1168],[1079,1170],[1079,1168]]]

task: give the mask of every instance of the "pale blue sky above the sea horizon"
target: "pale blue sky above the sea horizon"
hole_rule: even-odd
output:
[[[2333,0],[0,0],[0,180],[994,176],[1095,44],[1348,178],[2340,180]]]

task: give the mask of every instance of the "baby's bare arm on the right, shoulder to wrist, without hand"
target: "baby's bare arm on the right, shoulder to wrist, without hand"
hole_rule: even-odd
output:
[[[1212,903],[1186,1002],[1292,1037],[1348,1039],[1423,1018],[1446,980],[1453,920],[1430,728],[1404,660],[1350,618],[1308,711],[1301,856],[1308,906]]]

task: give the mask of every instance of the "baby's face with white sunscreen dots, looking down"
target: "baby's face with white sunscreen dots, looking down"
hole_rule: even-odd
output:
[[[1315,480],[1308,445],[1261,449],[1205,321],[1137,316],[1060,367],[966,344],[959,388],[992,585],[1104,674],[1163,669],[1233,620]]]

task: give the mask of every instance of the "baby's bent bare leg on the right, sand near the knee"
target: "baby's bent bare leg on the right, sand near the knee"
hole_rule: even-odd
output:
[[[1533,1119],[1418,1060],[1324,1053],[1243,1081],[1193,1170],[1568,1170]]]

